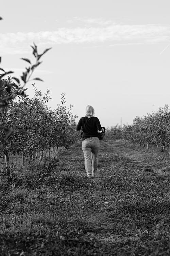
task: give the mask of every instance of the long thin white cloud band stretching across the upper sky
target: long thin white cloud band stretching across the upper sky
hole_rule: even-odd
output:
[[[91,25],[95,23],[95,26],[64,27],[58,28],[55,31],[29,33],[0,33],[0,50],[1,52],[7,52],[7,49],[15,49],[15,53],[23,53],[23,49],[26,48],[26,45],[32,44],[33,41],[36,42],[38,46],[45,44],[48,46],[52,44],[101,44],[104,42],[113,45],[123,45],[170,41],[170,27],[165,25],[125,25],[105,21],[103,26],[101,19],[85,19],[84,22],[85,24],[89,23]],[[12,50],[10,52],[12,52]]]

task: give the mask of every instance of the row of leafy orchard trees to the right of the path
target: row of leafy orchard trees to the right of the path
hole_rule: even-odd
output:
[[[132,125],[123,128],[115,126],[107,132],[112,139],[124,139],[138,145],[155,145],[170,154],[170,109],[168,105],[157,112],[143,117],[135,117]],[[111,135],[112,134],[112,135]]]

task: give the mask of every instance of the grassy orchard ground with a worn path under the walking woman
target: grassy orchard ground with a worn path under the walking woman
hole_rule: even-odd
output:
[[[170,255],[168,154],[104,138],[95,179],[81,142],[65,157],[51,180],[1,182],[1,256]]]

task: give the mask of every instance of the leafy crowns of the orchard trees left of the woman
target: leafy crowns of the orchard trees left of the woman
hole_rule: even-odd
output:
[[[62,93],[62,104],[58,104],[52,111],[46,105],[50,99],[49,90],[43,96],[33,86],[34,98],[30,99],[27,95],[20,97],[4,115],[3,125],[13,132],[6,139],[3,139],[4,131],[0,132],[3,139],[2,153],[22,153],[24,156],[33,157],[36,151],[44,153],[44,150],[49,151],[54,147],[68,148],[77,140],[76,116],[71,114],[71,105],[68,109],[65,106],[65,94]],[[19,109],[17,115],[14,111],[16,106]]]

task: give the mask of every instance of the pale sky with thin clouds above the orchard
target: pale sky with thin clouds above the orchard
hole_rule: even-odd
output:
[[[132,124],[170,103],[169,10],[169,0],[3,1],[0,68],[19,77],[29,66],[21,58],[34,62],[33,42],[38,53],[52,47],[30,97],[35,83],[50,90],[51,109],[64,92],[76,122],[92,105],[104,127]]]

